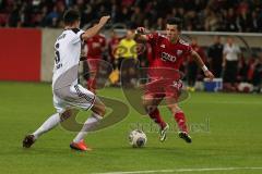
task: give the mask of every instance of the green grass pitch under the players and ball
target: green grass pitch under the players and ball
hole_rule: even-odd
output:
[[[117,88],[99,94],[124,101]],[[22,148],[24,135],[35,130],[55,112],[50,84],[0,83],[0,173],[103,173],[179,169],[262,166],[262,96],[194,92],[181,108],[191,125],[193,142],[186,144],[171,130],[162,144],[146,116],[130,109],[129,116],[112,127],[92,133],[86,142],[92,152],[75,152],[69,144],[75,133],[57,127],[31,149]],[[166,109],[162,114],[170,125]],[[87,113],[81,112],[79,120]],[[141,123],[141,124],[136,124]],[[128,142],[131,128],[143,125],[145,148]],[[174,127],[174,126],[172,126]],[[168,171],[167,171],[168,172]],[[159,172],[156,172],[159,173]],[[262,170],[183,171],[182,173],[243,174]]]

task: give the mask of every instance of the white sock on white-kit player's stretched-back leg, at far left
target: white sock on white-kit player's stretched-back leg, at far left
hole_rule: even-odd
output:
[[[43,125],[33,134],[37,139],[41,134],[52,129],[61,122],[59,113],[51,115]]]

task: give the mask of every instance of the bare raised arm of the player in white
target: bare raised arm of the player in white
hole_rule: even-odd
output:
[[[86,39],[95,36],[96,34],[98,34],[99,30],[105,26],[105,24],[108,22],[109,18],[110,18],[109,15],[103,16],[98,24],[96,24],[92,28],[88,28],[87,30],[85,30],[85,33],[82,35],[82,39],[86,40]]]

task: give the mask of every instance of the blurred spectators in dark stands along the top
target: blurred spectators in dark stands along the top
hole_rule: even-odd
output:
[[[164,29],[177,16],[186,30],[262,32],[261,0],[0,0],[0,26],[61,27],[68,8],[81,12],[82,26],[110,14],[127,28]]]

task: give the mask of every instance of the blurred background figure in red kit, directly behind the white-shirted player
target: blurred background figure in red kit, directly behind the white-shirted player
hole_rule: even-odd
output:
[[[96,77],[99,69],[99,62],[103,60],[103,52],[106,47],[106,38],[102,34],[97,34],[94,37],[88,38],[87,46],[87,62],[90,69],[90,78],[87,80],[87,87],[91,91],[96,90]]]

